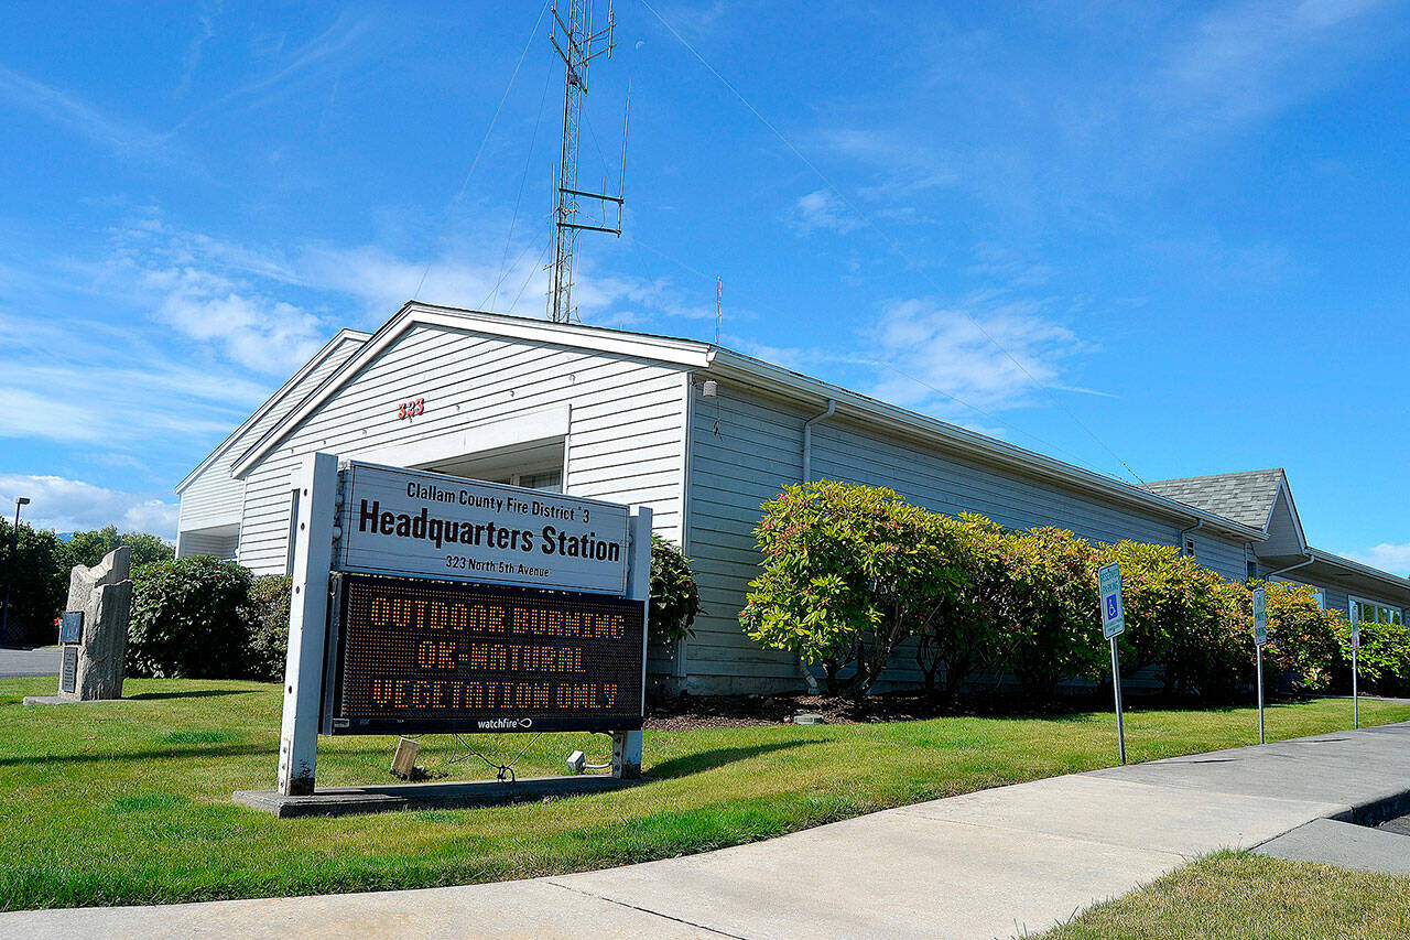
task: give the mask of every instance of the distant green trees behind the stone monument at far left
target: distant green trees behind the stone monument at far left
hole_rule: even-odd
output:
[[[116,525],[75,532],[68,541],[48,529],[20,522],[20,542],[14,558],[10,541],[14,526],[0,521],[0,591],[3,580],[14,572],[10,589],[7,635],[0,644],[52,644],[56,639],[54,618],[63,611],[69,596],[69,572],[75,565],[93,566],[116,549],[131,549],[133,567],[175,558],[176,549],[148,532],[118,532]]]

